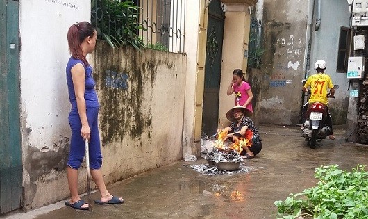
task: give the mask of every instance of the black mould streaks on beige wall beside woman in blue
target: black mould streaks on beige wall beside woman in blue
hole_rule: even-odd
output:
[[[102,54],[111,54],[102,56]],[[124,136],[140,140],[150,138],[152,129],[151,102],[158,67],[174,68],[170,60],[157,58],[149,51],[144,56],[135,49],[97,47],[94,77],[97,83],[102,143],[122,141]],[[111,58],[114,57],[114,58]],[[118,58],[119,57],[119,58]],[[106,86],[108,72],[126,79],[124,88]],[[125,75],[125,76],[122,76]],[[125,83],[124,82],[124,83]]]

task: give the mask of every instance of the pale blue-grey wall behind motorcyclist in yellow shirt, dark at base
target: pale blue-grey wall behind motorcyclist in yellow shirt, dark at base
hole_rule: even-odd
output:
[[[317,11],[316,0],[315,19],[317,19]],[[318,31],[315,31],[315,25],[312,29],[310,74],[314,73],[315,62],[324,59],[327,63],[327,74],[331,76],[334,84],[339,85],[335,92],[336,99],[329,99],[333,124],[346,124],[349,105],[349,79],[346,77],[346,72],[336,72],[340,27],[349,28],[349,16],[346,0],[321,0],[321,25]]]

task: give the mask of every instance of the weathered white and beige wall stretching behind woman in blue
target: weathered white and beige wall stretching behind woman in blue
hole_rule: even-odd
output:
[[[90,19],[90,1],[21,1],[20,10],[24,210],[30,210],[69,197],[66,36],[70,25]],[[101,102],[106,183],[181,159],[187,56],[98,42],[89,60]],[[82,193],[85,167],[79,177]]]

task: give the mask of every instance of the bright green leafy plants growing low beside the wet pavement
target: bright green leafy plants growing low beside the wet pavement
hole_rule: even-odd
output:
[[[338,165],[321,166],[315,169],[315,177],[319,179],[315,187],[274,202],[276,218],[368,218],[368,172],[364,165],[352,172],[340,170]]]

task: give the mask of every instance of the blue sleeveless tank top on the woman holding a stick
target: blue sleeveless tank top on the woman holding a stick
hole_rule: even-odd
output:
[[[72,67],[74,67],[74,65],[78,63],[81,63],[84,66],[82,60],[70,57],[66,69],[69,101],[70,104],[72,104],[72,109],[76,109],[76,93],[74,92],[74,84],[71,70]],[[84,68],[85,68],[85,92],[84,92],[85,106],[99,108],[100,107],[99,99],[97,98],[96,90],[94,90],[94,86],[96,85],[96,83],[92,78],[92,67],[90,65],[87,65]]]

